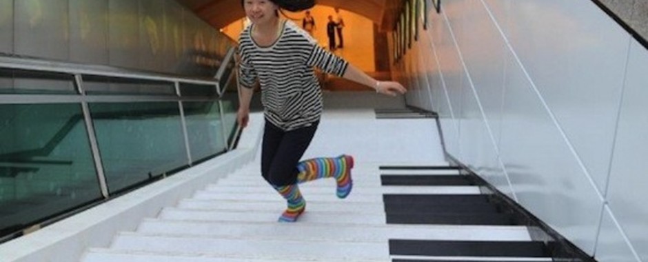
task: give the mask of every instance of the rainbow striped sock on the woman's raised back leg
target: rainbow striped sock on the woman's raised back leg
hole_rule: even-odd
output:
[[[340,157],[320,157],[308,159],[297,164],[297,183],[334,177],[337,182],[336,195],[343,199],[353,188],[351,169],[354,160],[352,156],[343,154]]]

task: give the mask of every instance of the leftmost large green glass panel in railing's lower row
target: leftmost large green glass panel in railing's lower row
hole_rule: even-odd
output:
[[[81,105],[0,105],[0,234],[101,198]]]

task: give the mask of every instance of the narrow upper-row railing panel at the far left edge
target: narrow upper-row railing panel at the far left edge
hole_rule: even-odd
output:
[[[0,94],[77,94],[70,74],[0,69]]]

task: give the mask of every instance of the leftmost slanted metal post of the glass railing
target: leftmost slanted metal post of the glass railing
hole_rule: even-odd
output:
[[[74,82],[77,84],[77,91],[81,96],[85,96],[83,89],[83,77],[81,74],[74,74]],[[99,180],[99,188],[101,195],[104,199],[108,199],[110,193],[108,192],[108,181],[106,181],[105,173],[103,172],[103,162],[101,161],[101,153],[99,152],[99,144],[97,143],[97,134],[94,132],[94,124],[90,116],[90,107],[85,100],[81,101],[81,108],[83,108],[83,120],[85,121],[85,130],[88,133],[90,141],[90,149],[92,150],[92,159],[94,159],[94,168],[97,169],[97,180]]]

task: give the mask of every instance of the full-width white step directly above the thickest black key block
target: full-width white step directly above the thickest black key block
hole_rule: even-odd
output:
[[[310,194],[331,194],[335,192],[335,185],[329,187],[311,186],[308,183],[299,185],[304,195]],[[207,192],[257,194],[272,193],[276,191],[270,185],[265,186],[239,186],[239,185],[207,185]],[[461,186],[409,186],[409,185],[386,185],[380,188],[354,188],[351,194],[481,194],[479,187],[472,185]]]

